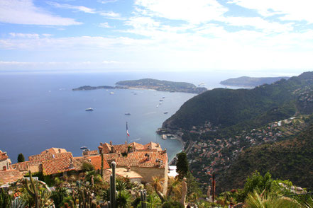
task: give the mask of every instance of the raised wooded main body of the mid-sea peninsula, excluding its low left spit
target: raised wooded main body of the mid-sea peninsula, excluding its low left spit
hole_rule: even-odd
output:
[[[165,81],[158,79],[138,79],[116,82],[117,86],[127,86],[129,88],[148,88],[157,91],[170,91],[182,93],[202,93],[207,91],[207,88],[199,88],[192,83]]]

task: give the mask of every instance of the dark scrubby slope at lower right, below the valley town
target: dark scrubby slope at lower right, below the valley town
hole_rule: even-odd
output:
[[[263,144],[246,149],[238,155],[224,175],[219,176],[218,186],[224,190],[243,187],[246,175],[254,171],[270,171],[273,178],[291,180],[301,187],[312,189],[313,181],[313,125],[286,141]]]

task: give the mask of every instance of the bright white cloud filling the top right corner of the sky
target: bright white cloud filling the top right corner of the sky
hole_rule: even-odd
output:
[[[282,17],[280,17],[281,20],[307,21],[313,23],[311,0],[230,0],[229,3],[254,9],[262,16],[280,14],[282,15]]]

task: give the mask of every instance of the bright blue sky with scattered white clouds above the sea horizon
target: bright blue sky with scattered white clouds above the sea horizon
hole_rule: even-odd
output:
[[[0,71],[313,69],[312,0],[1,0]]]

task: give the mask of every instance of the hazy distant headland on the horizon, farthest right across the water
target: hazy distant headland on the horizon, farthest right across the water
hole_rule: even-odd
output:
[[[288,76],[278,76],[278,77],[249,77],[241,76],[238,78],[231,78],[221,81],[220,84],[225,86],[239,86],[239,87],[248,87],[254,88],[256,86],[263,85],[265,83],[271,84],[280,79],[289,79]]]

